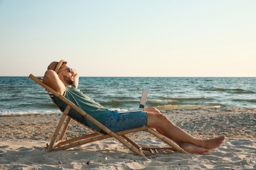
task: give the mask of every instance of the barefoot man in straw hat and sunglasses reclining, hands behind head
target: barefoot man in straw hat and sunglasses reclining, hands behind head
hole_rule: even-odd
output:
[[[67,62],[63,59],[59,62],[53,61],[48,66],[43,82],[56,90],[56,92],[67,97],[75,105],[87,112],[87,114],[98,120],[98,122],[115,132],[141,126],[156,128],[159,133],[175,141],[175,143],[179,144],[181,148],[190,154],[207,154],[209,150],[221,146],[225,138],[221,136],[203,140],[194,137],[181,129],[181,127],[173,124],[160,110],[154,107],[148,107],[143,112],[130,112],[128,114],[119,114],[117,111],[108,110],[77,89],[79,83],[78,72],[68,67]],[[66,104],[58,99],[58,97],[55,97],[55,101],[62,110],[66,108]],[[68,115],[100,131],[98,127],[74,109],[70,110]]]

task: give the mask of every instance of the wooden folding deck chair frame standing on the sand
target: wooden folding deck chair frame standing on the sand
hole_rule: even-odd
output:
[[[100,141],[102,139],[108,139],[112,137],[117,141],[119,141],[120,143],[124,144],[127,148],[129,148],[129,150],[131,150],[135,154],[142,157],[156,155],[156,154],[169,154],[170,152],[175,152],[175,151],[188,154],[188,152],[183,150],[178,144],[174,143],[167,137],[164,137],[154,129],[151,129],[147,126],[143,126],[135,129],[128,129],[125,131],[119,131],[117,133],[114,133],[113,131],[108,129],[106,126],[102,125],[100,122],[92,118],[89,114],[87,114],[86,112],[81,110],[79,107],[74,105],[74,103],[69,101],[66,97],[56,92],[55,90],[53,90],[53,88],[47,86],[47,84],[43,83],[43,81],[40,78],[37,78],[33,75],[30,75],[29,77],[32,78],[32,80],[34,80],[35,82],[37,82],[37,84],[40,84],[41,86],[43,86],[43,88],[45,88],[47,92],[52,93],[53,95],[56,95],[56,97],[58,97],[59,99],[61,99],[67,104],[67,107],[62,112],[62,116],[53,133],[51,142],[47,144],[47,151],[49,152],[53,150],[66,150],[68,148],[74,148],[75,146],[81,146],[82,144],[92,143],[94,141]],[[103,133],[100,133],[99,131],[94,130],[93,133],[90,133],[90,134],[74,137],[73,139],[64,139],[68,126],[70,125],[70,121],[72,120],[72,118],[68,116],[68,112],[70,111],[71,108],[77,110],[77,112],[85,116],[85,118],[93,122],[93,124],[95,124],[96,126],[100,127],[100,129],[105,131],[107,134],[105,135]],[[66,120],[66,123],[64,124],[65,120]],[[85,125],[82,124],[82,126],[85,126]],[[87,127],[87,128],[91,128],[91,127]],[[62,132],[60,133],[61,129],[62,129]],[[135,141],[131,140],[129,137],[127,137],[127,134],[135,133],[139,131],[148,131],[148,133],[151,133],[152,135],[154,135],[155,137],[163,141],[163,143],[166,143],[168,146],[165,148],[143,147],[135,143]]]

